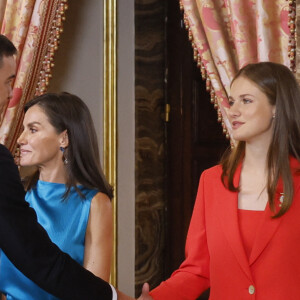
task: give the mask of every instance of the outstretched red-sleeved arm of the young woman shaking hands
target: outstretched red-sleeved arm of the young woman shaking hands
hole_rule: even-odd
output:
[[[154,300],[193,300],[197,299],[209,288],[209,264],[204,208],[204,176],[200,177],[197,198],[190,222],[185,254],[186,258],[179,269],[172,276],[163,281],[158,287],[150,292]],[[147,292],[138,300],[151,299]]]

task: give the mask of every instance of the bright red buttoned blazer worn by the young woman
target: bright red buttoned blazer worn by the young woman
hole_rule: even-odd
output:
[[[300,164],[291,159],[294,200],[272,219],[267,204],[250,258],[241,239],[238,193],[221,182],[221,166],[203,172],[186,241],[186,259],[171,278],[151,291],[155,300],[194,300],[210,287],[211,300],[300,299]],[[238,185],[241,166],[234,177]],[[279,183],[276,207],[283,187]]]

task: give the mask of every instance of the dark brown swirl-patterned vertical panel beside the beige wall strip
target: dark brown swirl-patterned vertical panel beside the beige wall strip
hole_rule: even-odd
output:
[[[136,295],[164,278],[165,1],[135,1]]]

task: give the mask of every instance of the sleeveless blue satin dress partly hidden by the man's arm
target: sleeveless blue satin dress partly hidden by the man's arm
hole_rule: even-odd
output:
[[[74,188],[62,200],[65,184],[38,181],[26,194],[26,201],[36,211],[38,222],[46,229],[50,239],[79,264],[83,265],[85,232],[90,206],[97,190],[78,185],[85,196],[80,198]],[[0,253],[0,291],[7,300],[58,299],[45,292],[23,275],[4,252]]]

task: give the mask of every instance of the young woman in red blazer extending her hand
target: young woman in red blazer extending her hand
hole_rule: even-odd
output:
[[[139,299],[300,299],[300,90],[285,66],[242,68],[228,117],[235,147],[201,175],[186,259]]]

